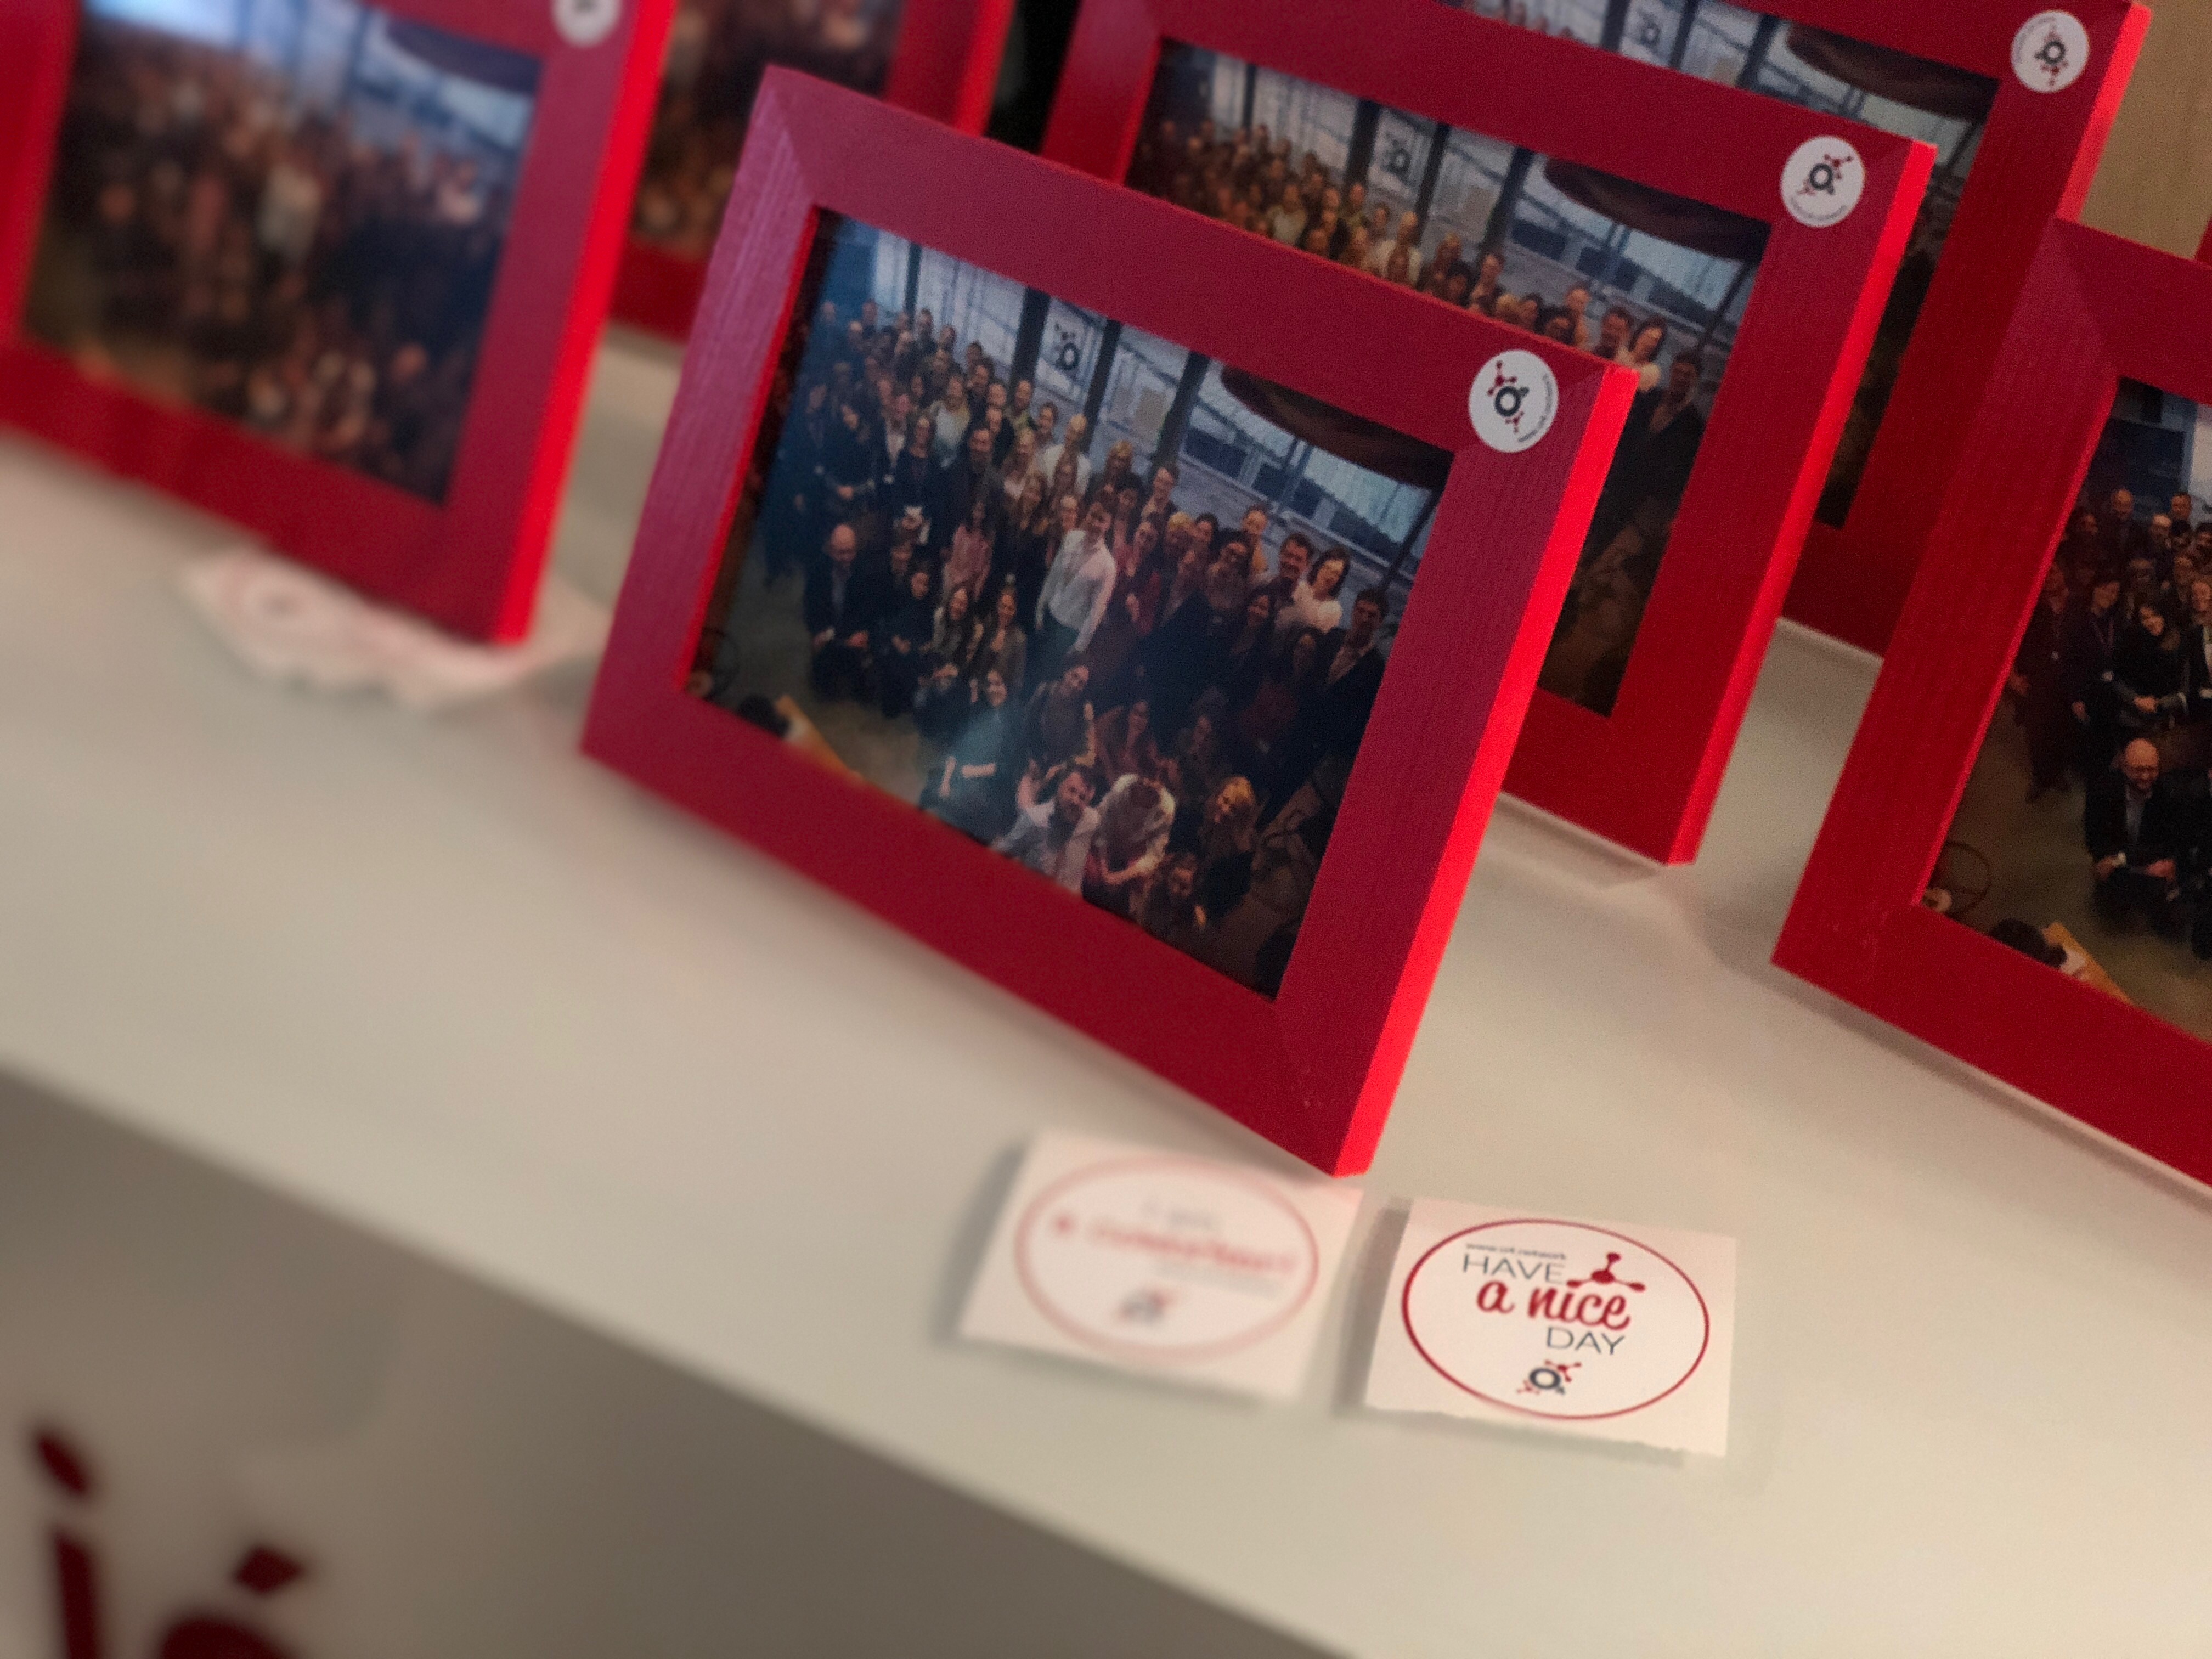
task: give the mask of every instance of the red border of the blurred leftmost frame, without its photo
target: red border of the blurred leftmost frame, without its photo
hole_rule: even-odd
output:
[[[24,334],[77,0],[4,0],[0,60],[0,422],[75,449],[246,529],[451,633],[518,639],[568,469],[672,0],[624,0],[588,46],[551,0],[378,0],[540,64],[513,217],[442,502],[254,436],[215,414],[91,378]]]

